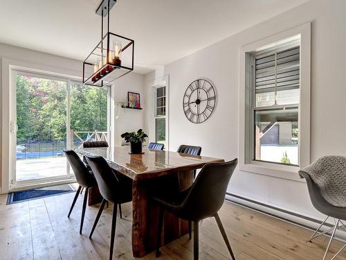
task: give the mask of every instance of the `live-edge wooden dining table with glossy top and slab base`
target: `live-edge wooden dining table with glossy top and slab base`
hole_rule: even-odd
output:
[[[133,180],[132,187],[132,252],[143,257],[156,248],[158,206],[150,198],[157,194],[173,196],[193,183],[193,171],[209,162],[224,159],[186,155],[167,150],[149,150],[129,154],[129,146],[108,148],[79,148],[82,155],[102,156],[109,166]],[[90,191],[91,194],[97,191]],[[95,196],[91,196],[91,198]],[[90,197],[89,197],[90,199]],[[188,222],[165,212],[161,245],[188,233]]]

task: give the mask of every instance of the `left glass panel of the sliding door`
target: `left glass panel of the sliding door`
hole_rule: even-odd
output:
[[[67,80],[17,72],[16,182],[68,176],[66,157]]]

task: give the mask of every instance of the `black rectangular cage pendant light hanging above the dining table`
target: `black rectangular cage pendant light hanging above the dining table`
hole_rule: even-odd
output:
[[[101,41],[83,62],[83,84],[103,87],[134,70],[134,40],[109,32],[109,11],[116,0],[102,0],[96,10],[101,16]],[[103,19],[107,16],[107,33]]]

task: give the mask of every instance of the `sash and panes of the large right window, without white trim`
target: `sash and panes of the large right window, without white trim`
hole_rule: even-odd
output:
[[[252,158],[299,165],[300,41],[250,54]]]

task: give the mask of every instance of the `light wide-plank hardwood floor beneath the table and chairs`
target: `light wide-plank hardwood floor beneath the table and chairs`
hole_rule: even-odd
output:
[[[82,196],[71,218],[67,213],[74,193],[6,205],[0,196],[0,259],[108,259],[111,205],[104,209],[93,239],[89,232],[98,207],[87,207],[83,234],[80,235]],[[327,238],[309,243],[311,231],[266,216],[257,211],[225,202],[220,218],[237,260],[244,259],[322,259]],[[134,259],[131,252],[131,203],[122,205],[123,219],[116,226],[113,259]],[[226,260],[230,255],[214,218],[201,221],[200,259]],[[332,252],[342,243],[334,241]],[[193,259],[188,235],[161,248],[160,260]],[[329,253],[328,257],[332,256]],[[143,257],[154,260],[154,252]],[[337,259],[346,259],[346,250]]]

